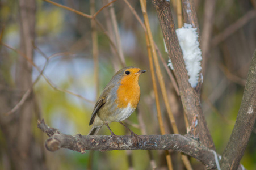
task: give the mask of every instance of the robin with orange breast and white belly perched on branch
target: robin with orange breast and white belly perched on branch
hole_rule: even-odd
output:
[[[108,124],[119,122],[124,125],[121,121],[135,111],[140,101],[139,76],[145,72],[146,70],[137,67],[125,67],[117,71],[95,104],[89,123],[89,125],[93,124],[93,127],[88,135],[98,133],[103,125],[107,126],[111,135],[115,135]],[[131,135],[135,134],[127,126],[125,128],[131,132]]]

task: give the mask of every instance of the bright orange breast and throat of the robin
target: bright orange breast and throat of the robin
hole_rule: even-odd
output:
[[[116,91],[115,103],[119,108],[126,108],[128,103],[136,108],[140,101],[140,86],[138,84],[139,74],[124,76]]]

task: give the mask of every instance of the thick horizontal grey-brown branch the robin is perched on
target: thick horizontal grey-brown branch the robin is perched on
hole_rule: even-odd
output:
[[[174,150],[190,155],[205,164],[208,169],[215,169],[215,159],[212,150],[202,145],[191,137],[179,134],[168,135],[140,135],[139,138],[107,135],[66,135],[58,129],[50,128],[44,120],[38,120],[37,126],[50,138],[45,141],[45,147],[49,151],[67,148],[77,152],[85,153],[84,150]]]

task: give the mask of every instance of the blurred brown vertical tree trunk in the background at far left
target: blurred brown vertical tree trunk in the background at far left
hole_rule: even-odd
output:
[[[19,91],[26,91],[32,85],[32,66],[28,60],[33,60],[32,42],[35,40],[35,11],[36,4],[34,0],[19,0],[20,51],[27,57],[20,56],[16,67],[15,84]],[[18,111],[19,121],[17,123],[19,128],[17,129],[16,141],[19,141],[19,143],[17,145],[16,163],[21,169],[32,169],[30,158],[32,100],[31,95]]]

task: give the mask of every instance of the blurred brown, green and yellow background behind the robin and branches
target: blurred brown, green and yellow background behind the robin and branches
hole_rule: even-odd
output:
[[[37,128],[37,119],[44,118],[46,124],[62,133],[87,135],[96,99],[112,75],[126,65],[140,67],[147,72],[139,80],[139,107],[124,122],[137,134],[160,134],[145,32],[127,1],[119,0],[112,3],[113,6],[103,8],[96,16],[99,24],[49,2],[36,1],[35,37],[28,42],[33,44],[33,61],[26,58],[26,51],[22,52],[27,38],[22,29],[25,23],[20,13],[24,7],[22,2],[0,1],[0,169],[16,169],[18,162],[15,159],[28,157],[24,152],[18,152],[22,142],[30,144],[27,150],[36,159],[33,164],[40,169],[152,169],[149,152],[143,150],[95,151],[94,154],[64,149],[49,152],[44,147],[47,135]],[[90,15],[111,1],[54,2]],[[143,22],[140,2],[131,0],[128,3]],[[170,3],[175,25],[178,25],[177,1]],[[236,121],[251,57],[256,49],[256,1],[195,0],[194,5],[204,57],[202,107],[217,153],[222,154]],[[181,100],[164,67],[168,57],[156,10],[151,1],[147,2],[147,7],[154,41],[163,58],[160,65],[171,110],[179,131],[186,134]],[[120,59],[122,56],[123,61]],[[31,69],[28,80],[22,78],[26,71],[19,69],[20,58],[23,62],[26,59],[27,67],[23,69]],[[40,75],[41,70],[44,76]],[[23,83],[28,85],[23,86]],[[20,114],[23,106],[17,104],[30,89],[33,92],[26,99],[32,103],[29,107],[31,117],[27,118],[31,133],[26,137],[23,135],[26,128],[22,129],[22,118],[26,118],[28,112]],[[160,89],[158,92],[165,129],[172,133]],[[15,107],[16,110],[11,111]],[[145,124],[144,130],[140,128],[141,124]],[[110,128],[117,135],[129,134],[115,122],[110,124]],[[110,135],[110,132],[103,126],[99,134]],[[256,168],[255,142],[254,128],[241,160],[247,169]],[[17,152],[15,148],[18,148]],[[185,169],[181,155],[170,152],[174,169]],[[167,169],[163,151],[152,151],[151,154],[157,169]],[[203,169],[200,162],[190,159],[194,169]]]

